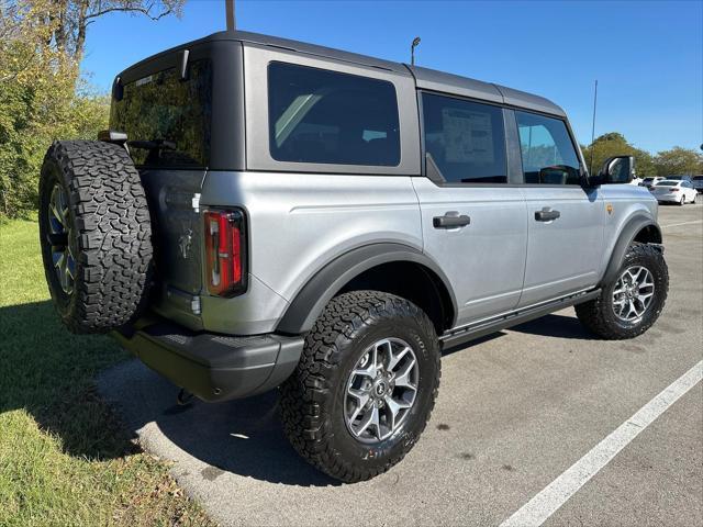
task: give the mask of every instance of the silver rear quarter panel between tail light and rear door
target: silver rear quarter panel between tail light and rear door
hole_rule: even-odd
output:
[[[310,278],[354,248],[380,242],[423,247],[420,206],[405,177],[209,172],[201,206],[245,209],[255,279],[241,296],[203,301],[212,330],[274,330]]]

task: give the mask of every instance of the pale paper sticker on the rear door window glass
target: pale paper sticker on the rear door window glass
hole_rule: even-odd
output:
[[[487,113],[456,108],[442,109],[448,162],[491,162],[493,131]]]

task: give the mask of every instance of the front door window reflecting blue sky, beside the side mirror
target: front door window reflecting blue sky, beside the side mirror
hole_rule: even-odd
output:
[[[515,112],[525,183],[580,184],[579,157],[559,119]]]

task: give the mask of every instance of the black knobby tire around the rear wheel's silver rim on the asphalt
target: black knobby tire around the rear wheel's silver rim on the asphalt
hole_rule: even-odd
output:
[[[345,422],[346,380],[365,349],[388,337],[412,346],[420,366],[417,395],[397,433],[365,444]],[[342,294],[315,322],[300,363],[281,386],[283,430],[298,453],[332,478],[353,483],[386,472],[412,449],[429,419],[439,359],[435,328],[412,302],[378,291]]]

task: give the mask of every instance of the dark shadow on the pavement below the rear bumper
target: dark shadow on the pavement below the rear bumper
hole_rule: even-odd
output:
[[[339,484],[290,446],[280,425],[276,391],[217,404],[194,400],[181,406],[176,402],[178,389],[138,360],[105,370],[98,389],[147,450],[199,471],[204,480],[232,472],[289,485]]]

